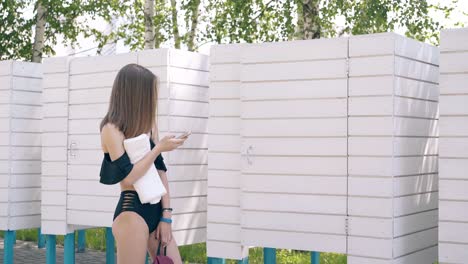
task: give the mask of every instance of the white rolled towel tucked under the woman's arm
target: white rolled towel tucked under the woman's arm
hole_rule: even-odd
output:
[[[124,148],[132,164],[137,163],[151,151],[148,134],[125,139]],[[151,164],[149,170],[133,184],[133,187],[141,203],[156,204],[167,193],[154,164]]]

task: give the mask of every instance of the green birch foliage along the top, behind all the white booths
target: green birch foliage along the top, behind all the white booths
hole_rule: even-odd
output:
[[[123,40],[131,50],[144,48],[144,0],[0,0],[0,59],[30,60],[36,17],[22,11],[38,1],[47,8],[44,56],[53,47],[76,47],[80,35],[94,38],[98,53],[105,44]],[[181,44],[197,50],[205,43],[270,42],[303,38],[300,34],[303,0],[177,0],[180,23],[172,20],[169,0],[155,1],[155,48],[173,47],[174,27]],[[431,5],[428,0],[314,0],[320,2],[318,28],[321,37],[368,34],[403,29],[406,36],[434,44],[442,25],[433,14],[448,18],[459,0]],[[34,12],[35,13],[35,12]],[[307,14],[307,12],[306,12]],[[310,13],[309,13],[310,14]],[[118,20],[111,32],[90,26],[103,18]],[[337,19],[344,20],[338,27]],[[455,22],[454,26],[462,26]]]

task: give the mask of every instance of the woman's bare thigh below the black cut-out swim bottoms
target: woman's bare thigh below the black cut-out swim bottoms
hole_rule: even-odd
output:
[[[148,243],[148,226],[136,212],[121,212],[112,223],[117,245],[117,264],[144,264]]]

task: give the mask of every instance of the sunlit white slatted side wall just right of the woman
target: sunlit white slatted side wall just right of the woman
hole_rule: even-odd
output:
[[[173,235],[178,245],[187,245],[206,241],[208,56],[176,49],[167,52],[168,79],[164,95],[167,102],[161,104],[167,107],[166,110],[161,108],[167,114],[161,113],[166,124],[161,122],[159,137],[163,137],[165,131],[176,135],[192,131],[182,147],[168,152],[165,157],[174,208]],[[152,62],[148,58],[145,52],[139,53],[139,64],[150,68]]]

